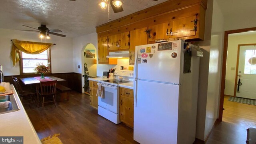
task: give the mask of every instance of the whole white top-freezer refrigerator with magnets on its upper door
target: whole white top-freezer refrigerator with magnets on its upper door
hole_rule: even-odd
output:
[[[136,46],[134,140],[140,144],[192,144],[196,137],[199,58],[184,41]],[[190,61],[191,60],[191,61]]]

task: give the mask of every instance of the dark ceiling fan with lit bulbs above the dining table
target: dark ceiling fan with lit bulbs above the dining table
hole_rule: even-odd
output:
[[[22,26],[25,26],[25,25],[22,25]],[[28,28],[32,28],[30,26],[26,26]],[[61,30],[49,30],[46,25],[44,24],[41,24],[41,26],[39,26],[38,28],[33,28],[35,30],[21,30],[21,31],[30,31],[30,32],[40,32],[40,35],[39,37],[40,38],[44,38],[46,37],[47,39],[50,38],[49,34],[53,34],[53,35],[56,35],[56,36],[61,36],[61,37],[66,37],[65,35],[63,34],[57,34],[55,32],[62,32]]]

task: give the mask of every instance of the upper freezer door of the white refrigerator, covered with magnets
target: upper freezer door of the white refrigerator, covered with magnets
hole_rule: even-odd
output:
[[[136,46],[137,78],[180,84],[183,47],[182,40]]]

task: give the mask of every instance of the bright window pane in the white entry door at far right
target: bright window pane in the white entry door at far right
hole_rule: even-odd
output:
[[[249,59],[255,57],[256,50],[246,50],[244,62],[244,74],[256,74],[256,65],[250,64]]]

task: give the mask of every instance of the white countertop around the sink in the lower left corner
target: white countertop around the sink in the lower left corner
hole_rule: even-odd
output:
[[[0,114],[0,136],[23,136],[24,144],[41,144],[14,86],[10,87],[20,110]]]

